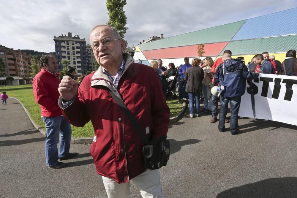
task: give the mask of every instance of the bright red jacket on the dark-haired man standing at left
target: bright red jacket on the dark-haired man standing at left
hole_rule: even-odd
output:
[[[40,104],[41,115],[44,117],[57,117],[62,115],[58,105],[59,99],[59,74],[54,74],[41,69],[33,79],[33,93],[35,100]]]

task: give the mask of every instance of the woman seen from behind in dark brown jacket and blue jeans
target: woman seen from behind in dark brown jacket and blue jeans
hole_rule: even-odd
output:
[[[194,58],[192,60],[192,63],[197,63],[200,61],[197,60],[198,58]],[[187,69],[185,73],[184,80],[187,80],[187,85],[186,85],[186,92],[189,94],[189,110],[190,114],[186,115],[190,118],[194,117],[194,97],[195,97],[195,116],[199,116],[199,96],[200,96],[200,91],[201,91],[201,85],[202,85],[202,80],[204,78],[204,72],[203,69],[199,67],[199,64],[194,64],[192,65],[191,68]]]

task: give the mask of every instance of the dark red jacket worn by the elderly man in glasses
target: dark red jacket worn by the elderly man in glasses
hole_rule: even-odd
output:
[[[134,63],[128,54],[123,55],[125,70],[117,89],[100,66],[83,79],[75,100],[62,110],[74,126],[82,127],[91,120],[95,131],[91,155],[97,173],[118,183],[128,182],[146,168],[142,157],[143,143],[108,89],[121,95],[147,137],[149,134],[152,138],[166,135],[170,117],[154,69]],[[61,97],[59,104],[61,106]]]

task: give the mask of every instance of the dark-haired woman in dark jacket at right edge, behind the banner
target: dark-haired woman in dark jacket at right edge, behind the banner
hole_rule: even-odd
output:
[[[287,76],[297,76],[296,50],[289,50],[286,53],[285,61],[281,65],[281,74]]]

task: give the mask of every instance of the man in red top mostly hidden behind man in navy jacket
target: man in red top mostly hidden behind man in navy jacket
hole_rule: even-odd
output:
[[[226,53],[232,55],[232,52],[230,50],[225,50],[223,55]],[[217,67],[222,63],[223,63],[222,57],[218,58],[214,62],[213,66],[211,67],[211,72],[215,74],[217,72]],[[212,83],[214,83],[214,77],[212,79]],[[217,116],[218,116],[218,97],[211,95],[211,101],[212,102],[211,102],[211,120],[210,120],[210,122],[215,123],[217,121]],[[225,123],[228,123],[228,122],[229,122],[229,120],[226,118]]]

